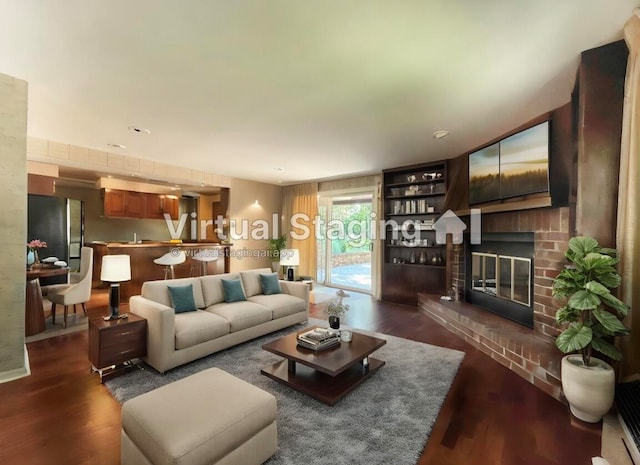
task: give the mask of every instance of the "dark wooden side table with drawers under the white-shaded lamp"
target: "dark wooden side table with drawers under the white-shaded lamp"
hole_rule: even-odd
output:
[[[147,320],[129,313],[128,318],[105,321],[89,320],[89,361],[91,372],[97,371],[102,382],[147,354]]]

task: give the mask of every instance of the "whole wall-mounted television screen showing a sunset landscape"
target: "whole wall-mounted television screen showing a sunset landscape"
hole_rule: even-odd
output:
[[[469,205],[549,191],[549,121],[469,154]]]

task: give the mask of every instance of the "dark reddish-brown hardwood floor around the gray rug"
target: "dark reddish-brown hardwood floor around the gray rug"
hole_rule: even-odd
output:
[[[89,315],[107,314],[106,303],[94,291]],[[355,294],[349,304],[348,325],[466,354],[419,465],[588,465],[600,455],[599,424],[572,420],[563,404],[416,308]],[[0,384],[0,464],[118,464],[120,405],[89,373],[87,332],[27,347],[31,376]]]

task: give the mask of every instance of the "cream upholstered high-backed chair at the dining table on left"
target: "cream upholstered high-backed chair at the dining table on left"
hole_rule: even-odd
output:
[[[73,305],[73,313],[76,305],[82,305],[85,316],[87,308],[85,303],[91,300],[91,279],[93,275],[93,249],[82,247],[80,249],[80,272],[72,273],[69,284],[51,286],[47,298],[51,301],[51,322],[56,322],[56,305],[64,305],[64,319],[62,326],[67,327],[69,306]]]

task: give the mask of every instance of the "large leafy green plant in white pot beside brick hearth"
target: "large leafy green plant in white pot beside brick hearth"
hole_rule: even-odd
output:
[[[580,420],[595,423],[613,405],[615,373],[592,353],[612,360],[622,358],[612,339],[629,334],[618,318],[624,317],[629,307],[611,293],[621,282],[615,249],[600,247],[591,237],[577,236],[569,241],[565,257],[571,264],[553,282],[553,297],[567,299],[556,312],[556,321],[564,328],[556,346],[571,354],[562,359],[562,390],[571,412]]]

